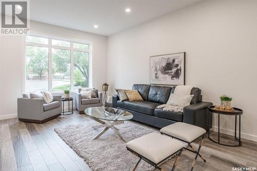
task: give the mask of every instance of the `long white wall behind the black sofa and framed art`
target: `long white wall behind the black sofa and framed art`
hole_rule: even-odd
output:
[[[149,56],[186,51],[186,84],[203,100],[233,97],[244,109],[242,137],[257,141],[257,1],[204,1],[108,37],[107,82],[149,84]],[[232,134],[234,117],[221,118]],[[217,125],[214,118],[213,125]]]

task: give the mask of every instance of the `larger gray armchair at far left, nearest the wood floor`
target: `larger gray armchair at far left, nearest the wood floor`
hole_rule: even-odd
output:
[[[19,121],[44,123],[61,116],[62,96],[53,95],[51,103],[44,103],[43,99],[17,99],[17,114]]]

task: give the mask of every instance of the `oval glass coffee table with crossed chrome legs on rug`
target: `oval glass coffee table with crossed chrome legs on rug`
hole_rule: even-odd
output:
[[[85,109],[86,115],[90,116],[91,119],[101,123],[102,125],[92,126],[94,129],[102,128],[104,129],[99,132],[98,135],[96,135],[93,139],[99,138],[101,135],[104,134],[109,128],[112,128],[116,134],[120,137],[120,139],[124,142],[124,138],[121,136],[119,129],[115,127],[115,125],[119,125],[124,123],[124,121],[131,120],[133,118],[133,115],[131,112],[116,109],[115,113],[110,113],[104,110],[104,107],[89,107]],[[103,121],[104,120],[104,121]]]

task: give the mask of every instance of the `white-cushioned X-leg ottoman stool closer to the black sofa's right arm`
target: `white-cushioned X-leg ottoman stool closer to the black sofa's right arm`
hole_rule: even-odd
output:
[[[201,155],[199,154],[199,151],[200,151],[201,145],[204,142],[205,133],[206,133],[206,130],[204,128],[183,123],[183,122],[176,122],[174,124],[161,128],[160,132],[163,135],[167,135],[174,139],[178,139],[180,141],[188,143],[188,146],[193,149],[191,150],[189,148],[184,148],[196,154],[195,159],[192,163],[191,170],[193,170],[198,156],[201,159],[203,159],[204,162],[206,162],[206,160],[203,157],[201,157]],[[195,150],[195,148],[191,145],[191,143],[199,137],[202,137],[202,138],[201,138],[198,150]]]

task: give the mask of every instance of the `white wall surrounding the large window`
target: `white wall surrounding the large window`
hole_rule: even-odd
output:
[[[101,90],[107,81],[107,37],[49,24],[30,22],[30,33],[93,42],[93,86]],[[15,117],[17,98],[22,96],[24,36],[0,36],[1,107],[0,119]]]

